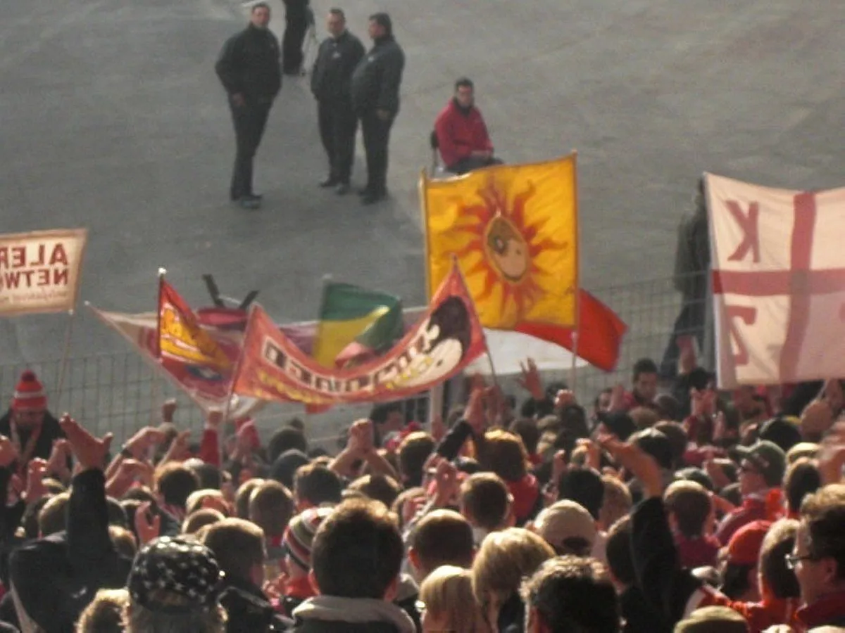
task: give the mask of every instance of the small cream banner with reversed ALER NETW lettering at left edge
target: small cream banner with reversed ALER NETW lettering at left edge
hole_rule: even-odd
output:
[[[88,230],[0,235],[0,317],[76,306]]]

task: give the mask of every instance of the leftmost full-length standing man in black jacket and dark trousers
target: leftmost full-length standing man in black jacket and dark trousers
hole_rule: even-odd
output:
[[[253,191],[253,159],[281,89],[279,41],[269,24],[270,6],[254,4],[247,28],[226,41],[215,65],[229,96],[237,141],[229,196],[243,208],[261,204],[261,196]]]

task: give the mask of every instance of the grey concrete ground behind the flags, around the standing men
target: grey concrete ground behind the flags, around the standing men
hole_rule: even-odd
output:
[[[273,27],[281,34],[277,0]],[[321,16],[328,0],[313,0]],[[259,150],[258,212],[226,194],[233,134],[213,70],[246,9],[231,0],[0,4],[0,231],[86,226],[82,299],[149,310],[155,273],[195,306],[202,273],[260,289],[279,321],[313,318],[320,278],[423,301],[417,175],[428,132],[471,77],[509,162],[579,152],[583,283],[671,273],[703,170],[781,187],[842,185],[842,7],[793,0],[347,0],[387,10],[407,57],[391,198],[316,187],[307,78],[286,78]],[[358,147],[355,179],[363,165]],[[0,363],[60,355],[62,317],[0,322]],[[126,349],[82,314],[73,354]],[[8,390],[7,385],[3,385]]]

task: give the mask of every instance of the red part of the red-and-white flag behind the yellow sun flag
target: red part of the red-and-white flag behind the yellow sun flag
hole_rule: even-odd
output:
[[[578,292],[578,355],[599,369],[613,371],[628,326],[585,289]],[[514,329],[572,351],[572,329],[532,322],[521,322]]]

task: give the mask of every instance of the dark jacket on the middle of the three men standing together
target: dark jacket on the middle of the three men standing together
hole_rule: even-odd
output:
[[[319,101],[352,100],[352,73],[364,56],[364,45],[348,30],[319,45],[311,73],[311,92]]]

